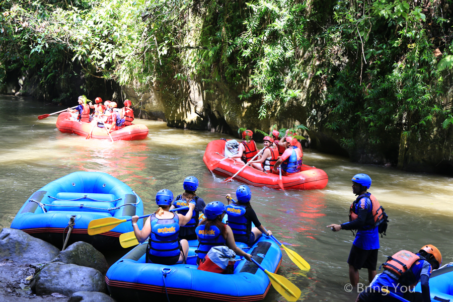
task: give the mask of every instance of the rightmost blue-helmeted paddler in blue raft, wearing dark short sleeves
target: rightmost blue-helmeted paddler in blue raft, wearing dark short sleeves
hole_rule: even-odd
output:
[[[249,247],[261,236],[271,236],[272,232],[264,229],[264,226],[258,220],[255,211],[250,205],[252,192],[246,185],[239,186],[236,190],[237,202],[232,203],[231,195],[226,195],[228,206],[226,206],[226,213],[228,214],[228,225],[230,225],[235,241],[244,242]],[[252,222],[255,228],[252,228]]]

